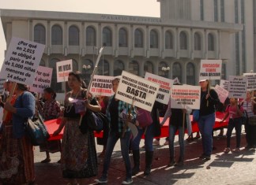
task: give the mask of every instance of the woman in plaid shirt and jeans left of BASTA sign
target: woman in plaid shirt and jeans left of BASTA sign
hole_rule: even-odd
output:
[[[112,88],[116,93],[117,88],[119,86],[119,78],[115,78],[112,80]],[[112,95],[109,99],[107,105],[107,117],[110,120],[110,132],[107,139],[107,149],[104,156],[104,169],[100,179],[96,179],[97,183],[107,183],[107,171],[111,162],[111,155],[113,153],[115,143],[120,139],[121,143],[121,153],[122,158],[126,165],[126,179],[122,181],[122,184],[130,184],[133,183],[132,179],[132,169],[130,165],[130,157],[129,157],[129,144],[130,144],[130,128],[126,126],[126,123],[119,116],[122,113],[130,113],[128,117],[130,120],[135,118],[134,109],[126,104],[126,102],[122,102],[115,98],[115,94]]]

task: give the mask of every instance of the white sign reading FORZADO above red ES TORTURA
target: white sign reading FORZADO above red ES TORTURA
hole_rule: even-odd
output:
[[[112,90],[112,80],[114,76],[99,76],[94,75],[92,80],[92,85],[89,92],[93,95],[99,96],[111,96],[114,94]]]

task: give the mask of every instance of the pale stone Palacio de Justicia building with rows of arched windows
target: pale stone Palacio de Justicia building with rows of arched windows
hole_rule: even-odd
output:
[[[104,76],[152,72],[197,85],[201,59],[221,59],[223,80],[254,70],[254,0],[157,1],[160,17],[14,9],[0,16],[7,46],[13,36],[45,44],[40,65],[54,68],[58,92],[56,62],[72,59],[88,83],[102,46]]]

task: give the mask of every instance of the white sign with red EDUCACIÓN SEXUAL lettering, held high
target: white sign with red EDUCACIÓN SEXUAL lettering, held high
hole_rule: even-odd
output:
[[[221,60],[201,60],[199,80],[220,80]]]

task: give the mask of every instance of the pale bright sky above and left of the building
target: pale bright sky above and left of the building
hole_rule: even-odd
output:
[[[160,2],[157,2],[157,0],[0,0],[0,9],[32,9],[160,17]],[[4,60],[4,50],[6,50],[6,39],[0,20],[0,67]]]

